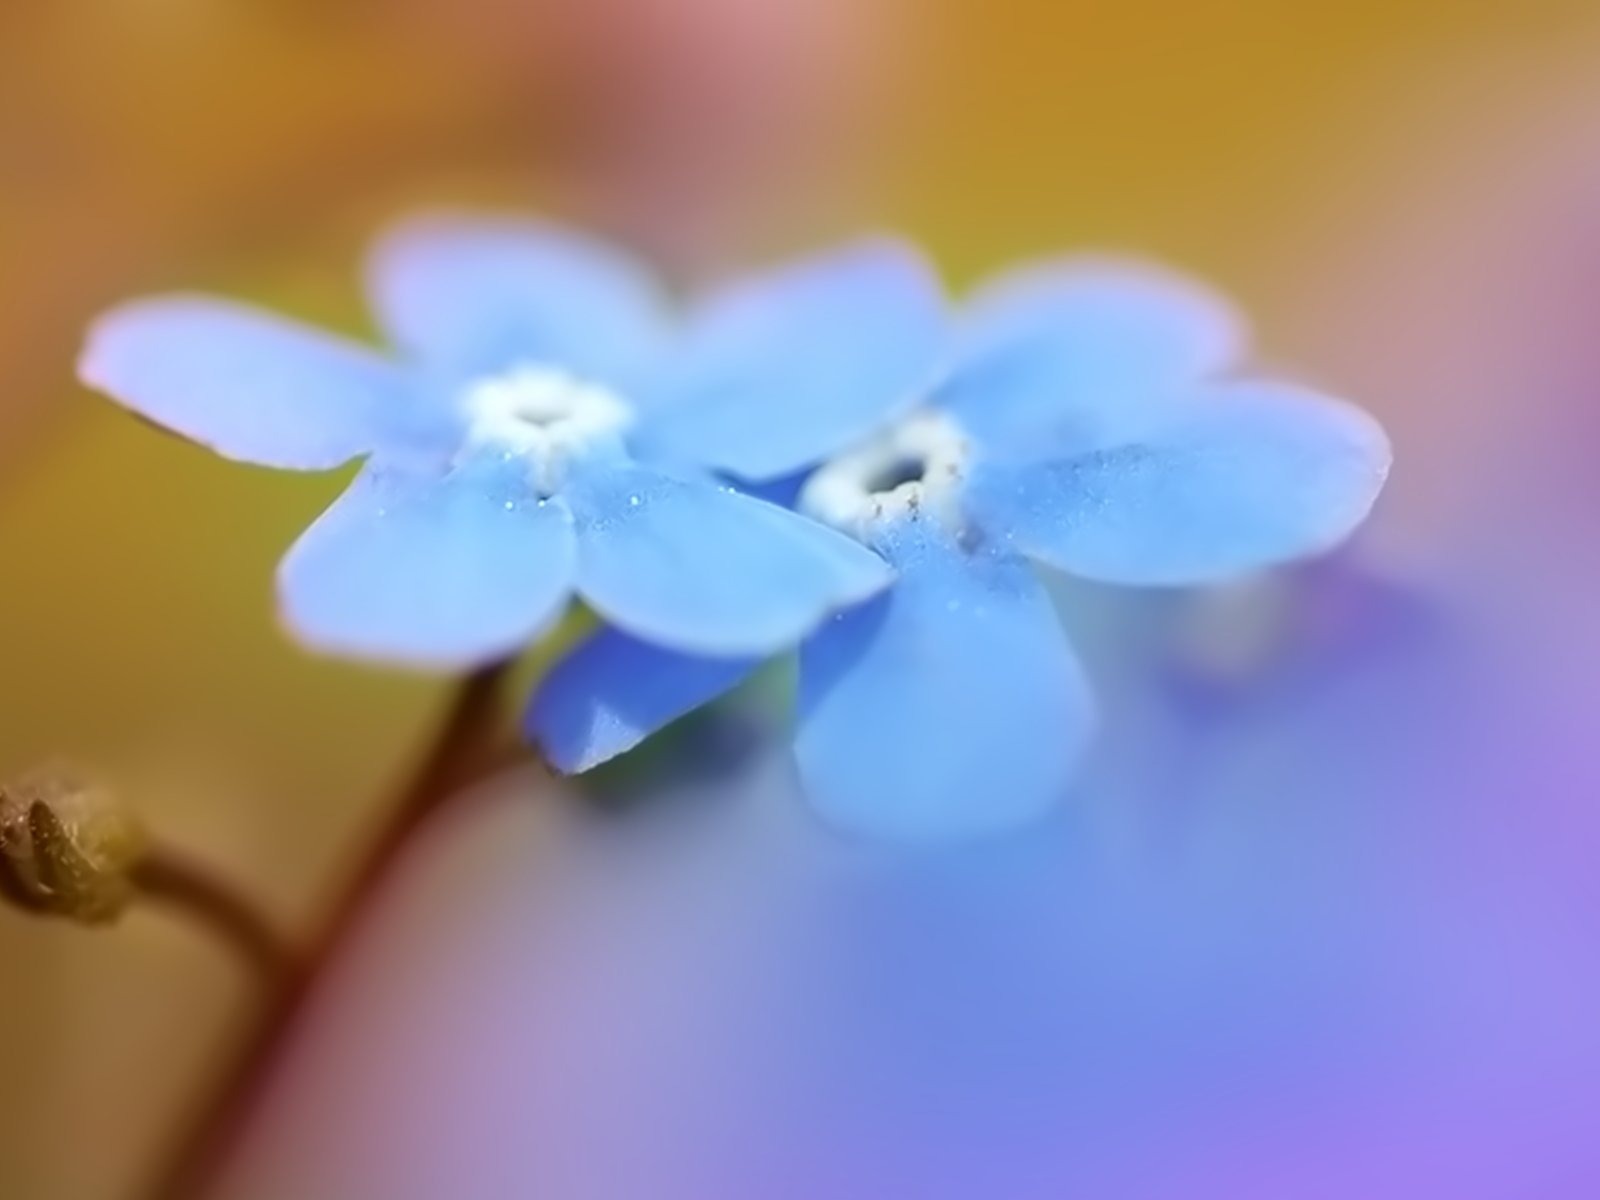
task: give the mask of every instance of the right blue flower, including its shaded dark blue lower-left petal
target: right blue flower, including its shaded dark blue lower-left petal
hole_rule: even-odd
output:
[[[1090,688],[1035,568],[1187,586],[1326,550],[1389,443],[1357,408],[1246,376],[1237,314],[1134,262],[1003,277],[907,387],[907,314],[941,299],[926,272],[886,286],[902,259],[856,248],[725,298],[702,336],[741,347],[739,386],[667,397],[646,435],[752,485],[814,467],[798,510],[894,568],[802,643],[795,755],[834,824],[930,838],[1038,816],[1086,747]],[[757,664],[606,630],[550,672],[528,730],[582,771]]]

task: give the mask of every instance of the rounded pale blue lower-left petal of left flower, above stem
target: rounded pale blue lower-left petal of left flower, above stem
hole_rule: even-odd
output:
[[[283,560],[283,621],[331,654],[491,662],[562,616],[574,557],[571,514],[534,499],[517,464],[430,477],[371,464]]]

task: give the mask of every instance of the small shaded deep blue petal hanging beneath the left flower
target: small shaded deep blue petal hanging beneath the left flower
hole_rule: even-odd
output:
[[[760,658],[696,658],[603,629],[557,662],[526,733],[558,771],[579,774],[742,683]]]

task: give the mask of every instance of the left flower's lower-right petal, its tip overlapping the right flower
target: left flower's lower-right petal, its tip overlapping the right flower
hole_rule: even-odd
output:
[[[584,598],[672,650],[786,650],[890,581],[888,566],[858,542],[710,480],[586,462],[568,496]]]

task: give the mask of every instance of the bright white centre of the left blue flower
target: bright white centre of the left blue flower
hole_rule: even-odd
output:
[[[541,496],[560,488],[573,458],[618,446],[634,424],[634,410],[614,392],[531,365],[474,382],[461,411],[467,448],[526,459]]]

